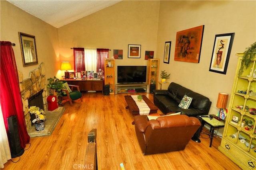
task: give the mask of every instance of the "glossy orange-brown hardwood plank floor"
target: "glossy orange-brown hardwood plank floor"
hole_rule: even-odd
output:
[[[153,101],[152,94],[145,94]],[[144,156],[138,144],[133,116],[125,109],[125,95],[102,96],[102,93],[83,93],[83,102],[64,104],[66,110],[56,125],[52,135],[30,138],[31,146],[26,145],[24,154],[12,158],[4,164],[6,170],[59,170],[86,169],[90,165],[84,162],[87,134],[97,129],[98,169],[126,170],[223,170],[240,169],[222,152],[218,151],[220,138],[204,139],[201,143],[192,140],[185,150]],[[158,111],[158,113],[161,113]]]

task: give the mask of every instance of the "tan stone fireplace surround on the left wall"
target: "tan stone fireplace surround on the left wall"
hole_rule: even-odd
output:
[[[23,104],[23,113],[25,117],[27,130],[31,128],[31,117],[28,112],[29,108],[29,100],[33,98],[33,96],[37,96],[38,93],[42,93],[42,100],[40,106],[45,111],[47,110],[47,99],[48,91],[46,85],[46,77],[45,77],[45,67],[44,63],[41,63],[37,69],[30,71],[29,78],[23,80],[22,72],[18,71],[19,76],[19,86],[20,86],[20,94],[22,98]],[[40,107],[38,106],[38,107]]]

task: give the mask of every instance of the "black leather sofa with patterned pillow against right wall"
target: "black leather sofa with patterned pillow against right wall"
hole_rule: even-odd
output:
[[[212,102],[210,99],[193,92],[179,84],[172,82],[168,90],[153,90],[154,104],[164,113],[181,112],[182,115],[196,117],[198,115],[208,115]],[[193,98],[188,109],[182,109],[178,105],[184,95]]]

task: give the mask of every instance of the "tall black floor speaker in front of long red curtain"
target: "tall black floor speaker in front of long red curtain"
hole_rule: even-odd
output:
[[[16,158],[18,156],[21,156],[24,153],[24,149],[20,147],[20,136],[19,136],[16,116],[7,117],[7,122],[8,122],[11,156],[12,158]]]

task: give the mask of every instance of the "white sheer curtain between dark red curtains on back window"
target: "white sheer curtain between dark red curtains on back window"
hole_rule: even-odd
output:
[[[85,68],[86,71],[94,71],[97,69],[97,49],[84,49]]]

